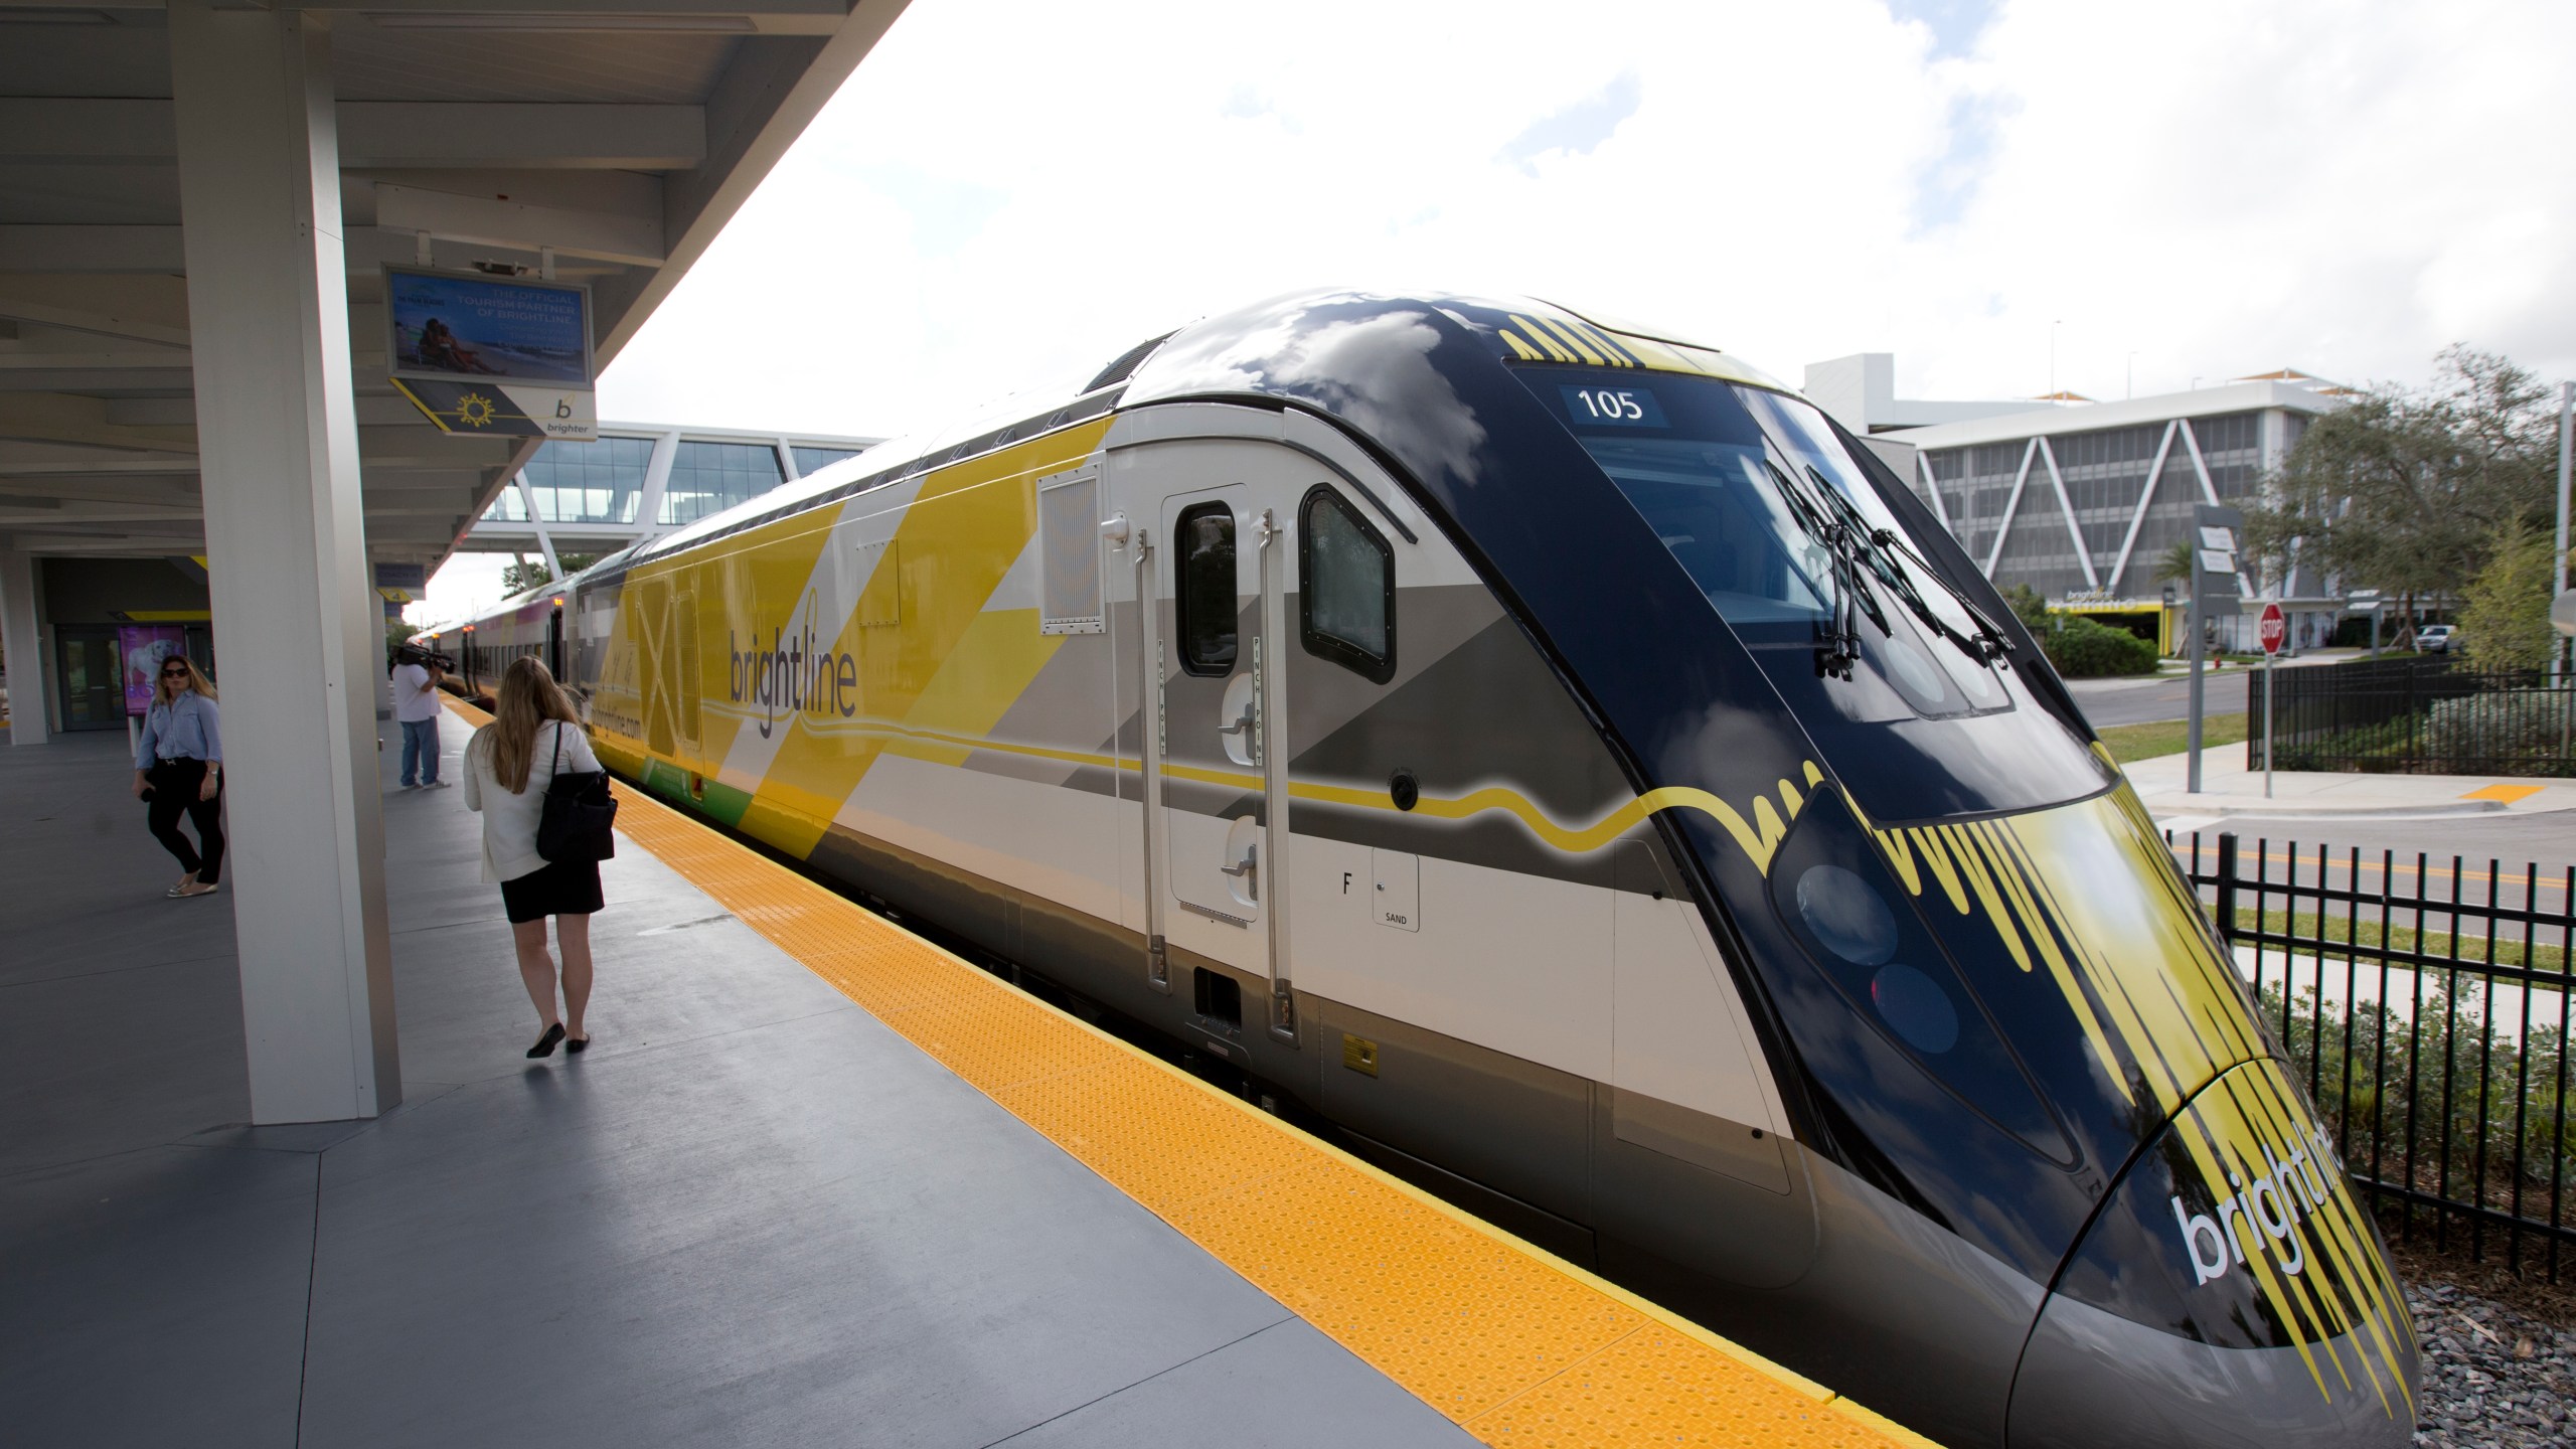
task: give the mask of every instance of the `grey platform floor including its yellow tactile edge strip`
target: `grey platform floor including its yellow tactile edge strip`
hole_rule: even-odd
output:
[[[389,748],[404,1101],[242,1127],[121,745],[0,750],[10,1444],[1924,1444],[634,792],[531,1062]]]

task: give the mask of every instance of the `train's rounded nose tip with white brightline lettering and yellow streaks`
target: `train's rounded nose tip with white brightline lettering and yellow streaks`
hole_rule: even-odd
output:
[[[2414,1325],[2334,1145],[2277,1062],[2136,1158],[2040,1310],[2007,1444],[2401,1446]]]

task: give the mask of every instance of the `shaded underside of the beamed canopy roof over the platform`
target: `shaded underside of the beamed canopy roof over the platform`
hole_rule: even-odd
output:
[[[392,389],[379,268],[551,248],[605,366],[904,3],[330,13],[374,559],[435,567],[536,449]],[[28,552],[204,552],[167,41],[160,0],[0,0],[0,534]]]

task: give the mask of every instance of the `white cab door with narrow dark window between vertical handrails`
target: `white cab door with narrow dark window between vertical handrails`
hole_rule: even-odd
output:
[[[1239,443],[1151,449],[1121,492],[1126,516],[1149,529],[1136,541],[1151,580],[1151,606],[1139,608],[1149,972],[1190,993],[1211,1024],[1293,1042],[1280,969],[1288,833],[1275,828],[1288,799],[1275,737],[1293,500],[1257,482],[1262,462]],[[1175,982],[1164,944],[1234,975]]]

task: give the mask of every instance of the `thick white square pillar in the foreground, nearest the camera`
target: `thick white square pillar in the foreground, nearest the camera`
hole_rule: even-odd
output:
[[[170,0],[252,1122],[402,1101],[330,31]]]

